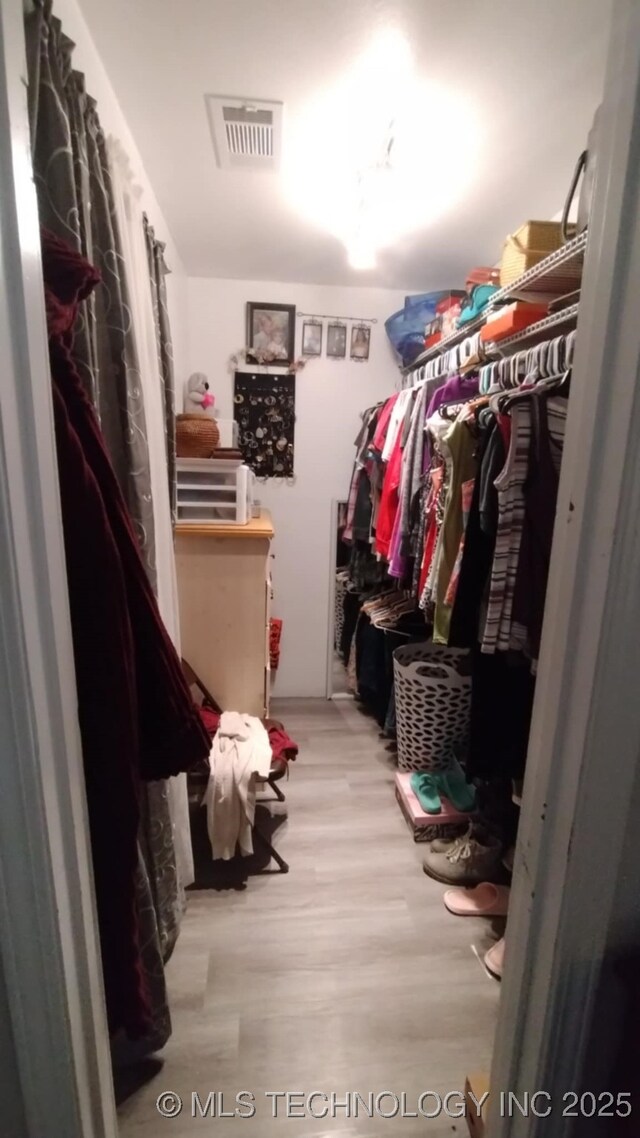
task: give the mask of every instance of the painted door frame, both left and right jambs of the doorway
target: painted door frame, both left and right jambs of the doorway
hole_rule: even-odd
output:
[[[13,1048],[28,1138],[115,1138],[22,20],[20,0],[0,0],[0,280],[10,282],[0,291],[0,979],[10,1016],[0,1046]],[[497,1089],[552,1092],[579,1079],[584,1013],[620,917],[614,901],[640,751],[639,92],[640,11],[616,0]],[[561,1135],[560,1115],[543,1128],[522,1116],[490,1122],[490,1138],[539,1133]]]

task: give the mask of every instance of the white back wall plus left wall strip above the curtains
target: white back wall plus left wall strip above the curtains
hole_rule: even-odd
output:
[[[330,508],[346,497],[360,412],[393,390],[397,370],[384,320],[402,307],[404,294],[384,289],[187,279],[171,232],[145,172],[140,152],[77,0],[56,0],[56,15],[74,41],[73,64],[84,72],[107,135],[124,147],[157,237],[166,242],[167,295],[175,361],[177,406],[192,371],[211,379],[224,417],[232,417],[229,356],[245,343],[247,300],[295,304],[304,312],[377,318],[370,361],[311,361],[297,376],[296,480],[259,484],[274,518],[274,615],[284,618],[281,667],[274,691],[323,695],[326,677]],[[298,321],[297,346],[300,349]]]

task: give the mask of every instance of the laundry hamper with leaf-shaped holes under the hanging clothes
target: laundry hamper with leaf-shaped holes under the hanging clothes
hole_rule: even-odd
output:
[[[468,653],[430,641],[393,653],[397,765],[401,770],[442,770],[467,750],[471,682]]]

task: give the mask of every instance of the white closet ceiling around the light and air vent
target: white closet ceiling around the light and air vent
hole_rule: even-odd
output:
[[[459,286],[507,232],[561,208],[601,98],[610,15],[609,0],[80,3],[190,275],[407,290]],[[452,147],[425,105],[417,141],[434,168],[445,155],[451,207],[359,272],[292,207],[282,174],[218,168],[204,96],[282,100],[286,124],[300,123],[389,26],[420,76],[468,106],[478,145],[471,158]]]

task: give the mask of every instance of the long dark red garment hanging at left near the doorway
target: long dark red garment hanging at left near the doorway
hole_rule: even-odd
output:
[[[71,351],[79,305],[99,275],[47,232],[42,258],[107,1013],[112,1032],[134,1038],[150,1026],[134,904],[140,782],[189,769],[210,741]]]

